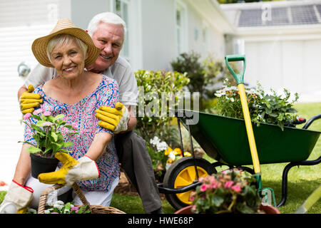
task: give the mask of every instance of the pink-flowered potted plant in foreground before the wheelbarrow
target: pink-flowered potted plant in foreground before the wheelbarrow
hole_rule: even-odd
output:
[[[245,175],[241,170],[232,169],[218,174],[200,177],[196,191],[190,193],[193,204],[180,209],[180,213],[210,214],[254,214],[280,213],[275,207],[261,204],[256,190],[256,178]]]

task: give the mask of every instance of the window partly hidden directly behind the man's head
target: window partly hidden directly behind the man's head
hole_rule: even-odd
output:
[[[123,43],[123,48],[121,49],[120,55],[126,58],[127,61],[129,61],[129,46],[128,46],[128,38],[130,36],[130,31],[129,31],[129,14],[128,14],[128,8],[129,8],[129,2],[130,0],[113,0],[113,12],[115,14],[118,14],[123,21],[126,22],[126,28],[127,28],[127,33],[126,33],[126,41]]]

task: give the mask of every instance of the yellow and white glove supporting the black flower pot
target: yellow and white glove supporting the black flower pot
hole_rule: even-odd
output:
[[[91,180],[99,177],[96,162],[83,156],[78,160],[65,152],[57,152],[55,157],[63,163],[63,166],[55,172],[41,173],[38,180],[45,184],[59,184],[71,186],[76,181]]]

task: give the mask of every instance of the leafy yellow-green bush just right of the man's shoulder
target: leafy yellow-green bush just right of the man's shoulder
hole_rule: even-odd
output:
[[[138,119],[136,132],[149,142],[158,136],[168,142],[173,112],[178,107],[183,87],[190,80],[185,73],[140,70],[135,73],[138,84]]]

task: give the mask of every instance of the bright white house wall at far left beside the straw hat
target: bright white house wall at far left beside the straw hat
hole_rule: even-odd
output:
[[[63,2],[63,4],[62,4]],[[31,70],[38,63],[31,51],[34,39],[46,36],[58,18],[69,18],[67,0],[0,0],[0,180],[14,175],[24,125],[20,123],[17,92],[24,84],[17,68],[25,62]]]

